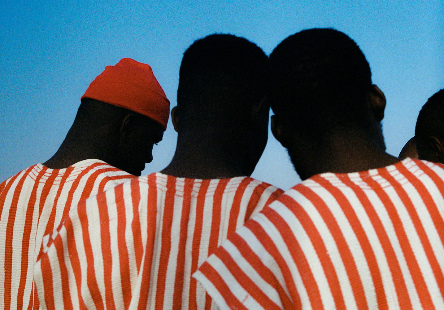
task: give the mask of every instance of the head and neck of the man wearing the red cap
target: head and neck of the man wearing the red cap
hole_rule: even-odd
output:
[[[162,140],[169,106],[151,67],[123,58],[91,82],[65,140],[44,165],[61,169],[94,158],[140,176]]]

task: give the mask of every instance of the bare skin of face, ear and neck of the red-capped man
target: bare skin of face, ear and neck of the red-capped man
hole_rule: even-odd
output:
[[[85,127],[74,122],[57,152],[43,164],[51,169],[64,169],[94,158],[140,176],[145,163],[153,160],[153,145],[163,137],[159,124],[136,113],[105,125]]]

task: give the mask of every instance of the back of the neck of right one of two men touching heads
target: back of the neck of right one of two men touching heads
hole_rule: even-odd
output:
[[[299,142],[298,149],[289,149],[293,165],[302,180],[313,175],[332,173],[351,173],[382,168],[399,162],[381,148],[381,141],[359,131],[334,133],[322,146]]]

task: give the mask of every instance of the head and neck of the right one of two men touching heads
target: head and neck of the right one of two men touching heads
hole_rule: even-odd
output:
[[[306,179],[394,161],[385,153],[385,96],[343,32],[314,28],[283,40],[270,55],[272,131]]]

